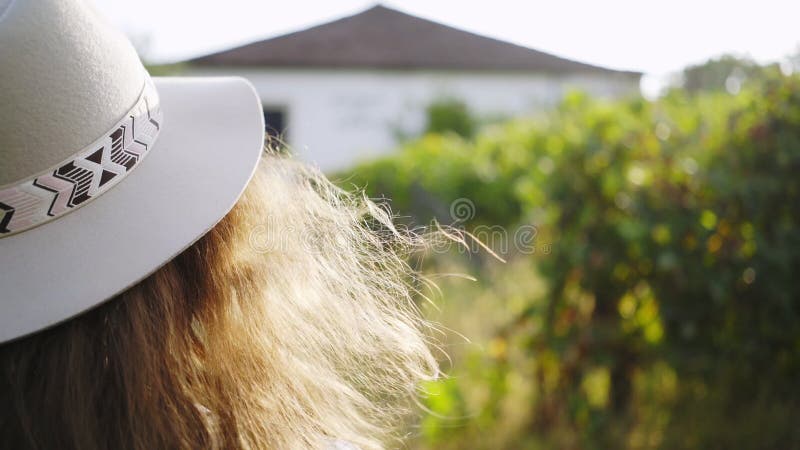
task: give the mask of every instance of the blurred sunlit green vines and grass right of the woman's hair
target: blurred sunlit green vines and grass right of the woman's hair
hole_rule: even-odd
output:
[[[451,336],[418,447],[798,448],[799,171],[800,79],[775,74],[735,96],[574,94],[357,168],[412,221],[468,198],[459,225],[532,224],[551,249],[440,283],[432,317],[472,343]]]

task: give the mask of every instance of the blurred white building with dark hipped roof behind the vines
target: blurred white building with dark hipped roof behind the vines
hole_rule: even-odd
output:
[[[639,92],[638,72],[610,70],[491,39],[384,6],[188,62],[191,75],[255,85],[268,128],[301,158],[335,170],[420,133],[442,98],[478,116],[558,102],[565,90]]]

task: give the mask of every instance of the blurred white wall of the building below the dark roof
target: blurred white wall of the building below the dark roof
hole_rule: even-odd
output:
[[[622,75],[242,68],[189,74],[248,78],[265,106],[285,111],[294,153],[324,171],[391,152],[399,135],[422,131],[425,108],[440,98],[457,98],[479,117],[494,117],[552,106],[573,88],[601,97],[639,92],[638,83]]]

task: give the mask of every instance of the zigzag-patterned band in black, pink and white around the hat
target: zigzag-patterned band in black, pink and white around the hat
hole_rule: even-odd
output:
[[[155,86],[146,79],[136,104],[103,137],[48,170],[0,188],[0,239],[89,203],[147,156],[162,113]]]

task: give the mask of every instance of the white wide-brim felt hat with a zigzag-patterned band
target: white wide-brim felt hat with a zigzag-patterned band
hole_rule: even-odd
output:
[[[131,287],[230,211],[263,147],[241,78],[150,78],[81,0],[0,0],[0,343]]]

